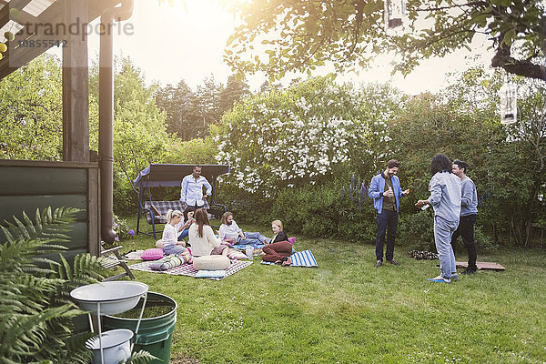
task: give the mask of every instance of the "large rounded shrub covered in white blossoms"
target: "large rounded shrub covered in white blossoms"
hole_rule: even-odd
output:
[[[238,104],[211,128],[217,162],[232,171],[222,179],[273,197],[283,187],[315,184],[339,166],[375,167],[388,152],[386,126],[399,103],[383,95],[392,94],[388,86],[370,90],[313,78]]]

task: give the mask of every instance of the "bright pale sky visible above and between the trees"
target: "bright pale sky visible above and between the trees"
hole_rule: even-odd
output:
[[[184,5],[186,3],[186,5]],[[162,85],[177,84],[184,79],[195,89],[203,79],[214,74],[217,82],[225,83],[231,74],[222,61],[227,37],[235,25],[234,15],[219,5],[218,0],[174,0],[158,5],[156,0],[135,0],[133,16],[126,21],[134,27],[133,34],[115,35],[116,55],[130,56],[133,63],[145,74],[147,82]],[[476,44],[473,54],[460,51],[456,54],[424,61],[414,72],[404,78],[390,76],[389,57],[377,60],[378,66],[359,76],[339,76],[339,81],[391,82],[412,95],[423,91],[437,91],[445,85],[446,72],[461,71],[469,64],[466,56],[479,56],[479,63],[489,65],[487,45]],[[98,36],[89,36],[89,56],[98,55]],[[483,55],[483,56],[481,56]],[[265,76],[248,78],[256,90]],[[290,79],[284,80],[287,84]]]

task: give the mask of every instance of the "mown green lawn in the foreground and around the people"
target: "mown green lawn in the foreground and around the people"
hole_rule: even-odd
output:
[[[136,227],[136,218],[128,219]],[[148,226],[146,226],[148,227]],[[267,227],[243,227],[271,235]],[[289,230],[288,230],[289,232]],[[290,236],[294,234],[289,234]],[[371,242],[297,235],[319,268],[254,264],[220,281],[135,271],[177,300],[172,359],[199,363],[544,363],[546,252],[480,254],[504,272],[431,283],[437,261],[374,268]],[[123,251],[153,248],[138,235]],[[465,260],[466,253],[457,255]]]

